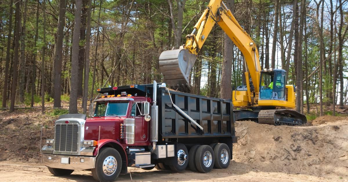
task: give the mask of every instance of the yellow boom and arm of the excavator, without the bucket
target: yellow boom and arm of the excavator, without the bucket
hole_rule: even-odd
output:
[[[243,53],[251,80],[254,84],[255,92],[259,92],[261,66],[255,42],[239,25],[236,18],[232,15],[231,11],[226,7],[223,1],[211,0],[209,2],[207,9],[204,10],[202,16],[193,27],[192,33],[186,36],[187,39],[184,48],[188,49],[191,54],[197,55],[215,23],[221,26],[222,30],[226,32],[228,37],[230,37]],[[196,31],[197,34],[195,35]],[[247,77],[248,76],[246,76],[246,78]],[[247,80],[247,82],[248,81],[249,80]],[[248,90],[250,90],[250,88]]]

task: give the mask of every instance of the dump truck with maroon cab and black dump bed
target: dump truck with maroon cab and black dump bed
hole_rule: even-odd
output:
[[[54,139],[41,149],[52,174],[91,170],[95,180],[113,181],[127,167],[202,173],[228,167],[237,142],[232,102],[156,81],[97,92],[90,118],[64,114],[55,121]]]

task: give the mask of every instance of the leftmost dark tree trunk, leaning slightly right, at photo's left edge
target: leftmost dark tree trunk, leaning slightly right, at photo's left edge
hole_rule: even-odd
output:
[[[2,92],[2,107],[6,108],[7,101],[7,90],[8,90],[8,76],[9,76],[9,67],[10,67],[10,47],[11,47],[11,33],[12,33],[12,10],[13,0],[10,0],[10,12],[8,18],[8,35],[7,35],[7,48],[6,48],[6,63],[5,63],[5,79],[3,81],[3,92]]]

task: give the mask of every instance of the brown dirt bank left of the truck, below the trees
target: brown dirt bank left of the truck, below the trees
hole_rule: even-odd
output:
[[[41,161],[40,135],[53,137],[53,121],[56,117],[45,116],[40,110],[0,111],[0,161]]]

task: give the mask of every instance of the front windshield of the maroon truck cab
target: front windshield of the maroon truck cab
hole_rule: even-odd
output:
[[[126,116],[128,102],[99,102],[94,116]]]

